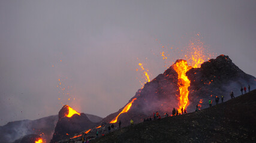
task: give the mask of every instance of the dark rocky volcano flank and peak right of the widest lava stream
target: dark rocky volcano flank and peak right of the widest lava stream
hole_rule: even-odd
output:
[[[200,100],[203,101],[201,108],[206,108],[209,106],[208,100],[213,100],[215,104],[216,96],[220,98],[224,95],[224,101],[227,101],[230,100],[231,91],[237,97],[241,95],[241,86],[248,88],[250,85],[251,89],[255,89],[256,85],[256,78],[240,70],[226,55],[206,61],[201,68],[191,69],[186,75],[191,80],[188,111],[194,111]]]

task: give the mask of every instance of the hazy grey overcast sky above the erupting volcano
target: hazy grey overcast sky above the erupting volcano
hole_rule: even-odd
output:
[[[171,65],[183,58],[173,49],[197,33],[207,50],[256,76],[255,7],[234,0],[0,1],[0,125],[58,114],[62,104],[114,113],[144,82],[138,63],[153,79],[167,69],[159,53]]]

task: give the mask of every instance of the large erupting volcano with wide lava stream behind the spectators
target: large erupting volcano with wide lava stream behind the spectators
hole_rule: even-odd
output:
[[[224,101],[227,101],[233,91],[237,97],[241,95],[240,88],[248,85],[255,89],[256,78],[240,70],[227,55],[210,59],[200,68],[189,67],[185,60],[177,60],[164,73],[138,89],[127,104],[132,103],[128,111],[122,113],[127,108],[125,105],[105,117],[102,123],[121,120],[122,126],[128,126],[131,119],[140,123],[156,111],[163,116],[164,113],[170,114],[173,108],[179,112],[181,108],[192,112],[197,105],[201,109],[208,107],[208,101],[214,101],[216,96],[224,95]]]

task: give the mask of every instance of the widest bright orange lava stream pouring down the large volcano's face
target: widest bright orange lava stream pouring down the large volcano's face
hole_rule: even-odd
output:
[[[188,63],[185,60],[179,60],[174,64],[173,69],[178,74],[178,85],[179,85],[179,91],[180,91],[180,97],[179,97],[179,112],[181,111],[181,108],[183,110],[188,107],[189,101],[188,101],[188,87],[190,86],[190,80],[186,76],[186,71],[190,70],[192,67],[188,66]]]

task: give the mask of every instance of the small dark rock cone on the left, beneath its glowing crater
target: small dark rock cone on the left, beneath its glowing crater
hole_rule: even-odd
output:
[[[74,114],[72,117],[66,117],[68,114],[68,107],[64,105],[59,111],[59,121],[55,127],[53,138],[51,143],[57,142],[63,138],[70,138],[75,133],[79,133],[83,130],[91,129],[96,126],[97,123],[91,122],[86,114],[80,113]]]

